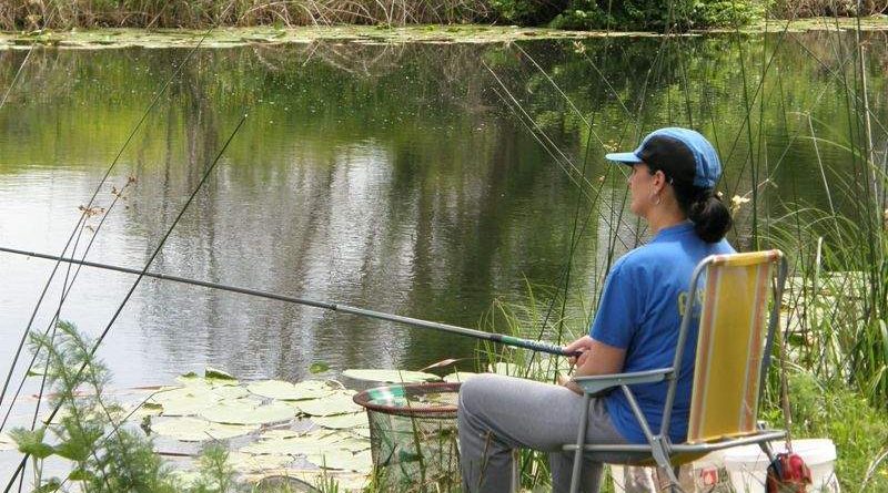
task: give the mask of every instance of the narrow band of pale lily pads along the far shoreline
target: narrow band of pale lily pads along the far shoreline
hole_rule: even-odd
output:
[[[739,30],[709,29],[680,33],[682,37],[773,32],[849,31],[857,29],[856,18],[811,18],[796,21],[766,20]],[[888,17],[860,19],[861,31],[888,32]],[[427,24],[397,28],[375,25],[218,28],[209,34],[194,29],[104,28],[97,30],[0,32],[0,51],[29,50],[33,45],[71,50],[121,48],[235,48],[244,45],[307,44],[315,41],[342,41],[363,44],[398,43],[509,43],[522,40],[583,40],[592,38],[639,38],[665,34],[638,31],[563,31],[549,28],[517,28],[481,24]],[[205,35],[206,34],[206,35]]]

